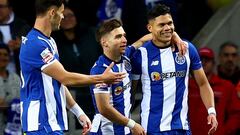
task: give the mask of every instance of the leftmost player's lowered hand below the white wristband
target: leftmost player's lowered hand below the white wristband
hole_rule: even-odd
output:
[[[90,119],[84,114],[79,116],[78,121],[83,126],[82,135],[87,135],[92,128]]]

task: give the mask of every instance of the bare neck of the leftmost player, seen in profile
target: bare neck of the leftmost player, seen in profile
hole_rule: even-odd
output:
[[[44,35],[50,37],[52,32],[51,23],[47,19],[47,17],[37,17],[34,28],[41,31]]]

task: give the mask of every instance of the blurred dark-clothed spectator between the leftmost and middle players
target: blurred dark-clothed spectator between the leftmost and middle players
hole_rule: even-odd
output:
[[[101,46],[95,40],[95,29],[78,23],[74,12],[67,6],[63,14],[60,31],[53,33],[61,56],[60,62],[68,71],[89,74],[94,62],[102,53]],[[92,119],[94,108],[89,87],[70,88],[70,90],[77,90],[76,101]]]

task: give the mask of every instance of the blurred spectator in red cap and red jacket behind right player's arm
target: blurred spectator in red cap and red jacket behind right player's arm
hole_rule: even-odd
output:
[[[234,85],[221,79],[214,73],[214,52],[210,48],[199,49],[204,72],[214,92],[215,107],[217,111],[218,129],[214,135],[234,135],[240,116],[240,100],[236,96]],[[211,125],[207,125],[208,114],[201,102],[201,97],[193,78],[189,82],[189,116],[193,135],[207,135]]]

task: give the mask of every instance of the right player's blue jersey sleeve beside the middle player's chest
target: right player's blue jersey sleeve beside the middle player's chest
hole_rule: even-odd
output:
[[[139,80],[140,75],[142,74],[142,56],[141,51],[137,50],[132,58],[131,58],[131,65],[132,65],[132,79]]]

